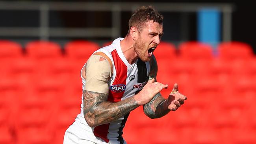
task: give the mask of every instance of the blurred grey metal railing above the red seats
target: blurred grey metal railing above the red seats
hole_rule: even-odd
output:
[[[0,10],[37,10],[39,11],[39,27],[0,27],[0,36],[38,36],[42,40],[49,37],[112,37],[121,35],[121,12],[134,11],[139,6],[154,6],[160,12],[197,12],[202,8],[214,7],[223,13],[223,41],[232,39],[232,4],[216,3],[147,3],[147,2],[20,2],[0,1]],[[111,28],[50,28],[49,11],[109,11],[112,15]],[[186,17],[181,18],[181,33],[186,39]]]

